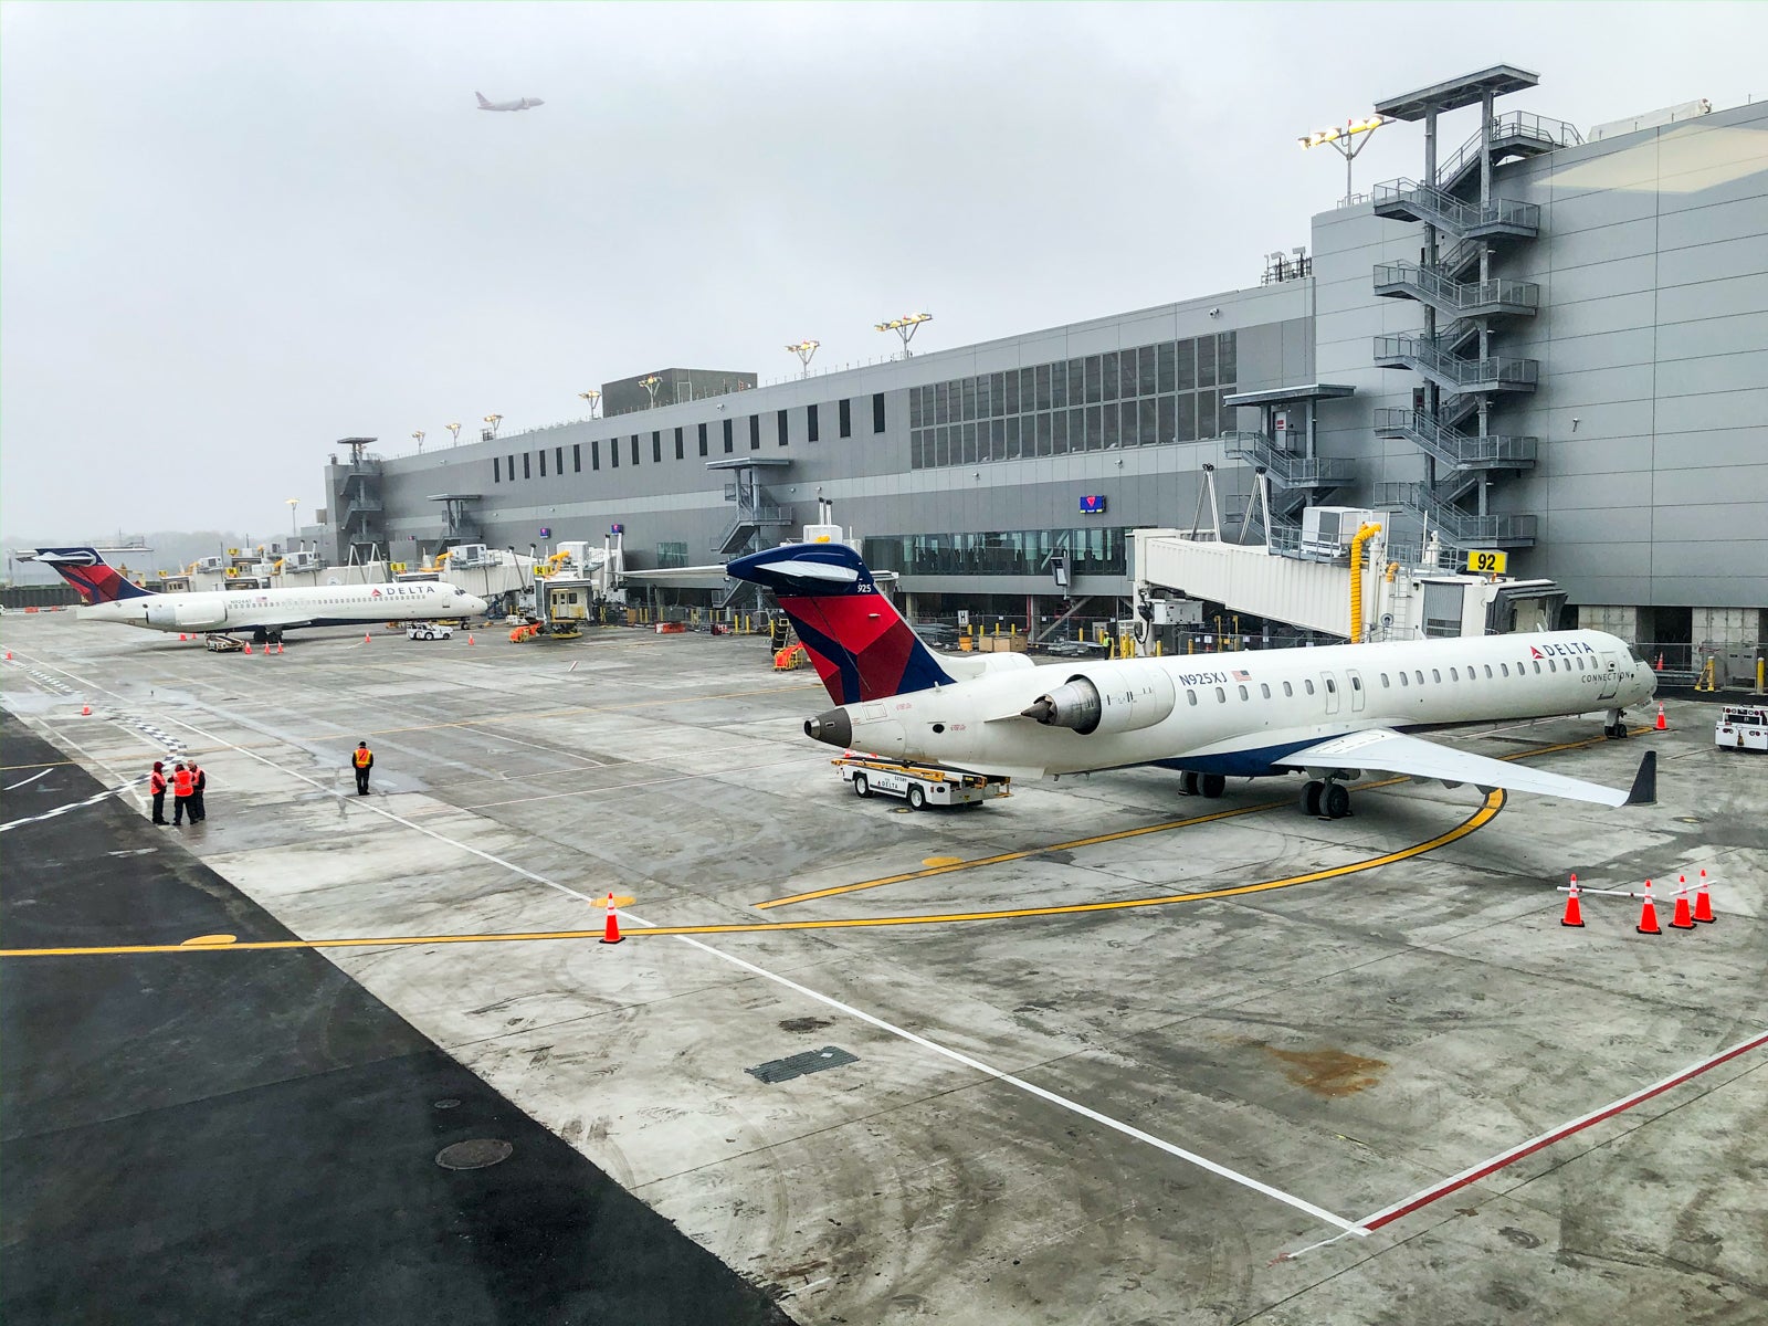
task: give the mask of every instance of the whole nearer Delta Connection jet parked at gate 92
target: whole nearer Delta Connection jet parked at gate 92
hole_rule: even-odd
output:
[[[1041,778],[1137,764],[1218,797],[1229,776],[1303,771],[1301,808],[1351,813],[1365,769],[1621,806],[1634,792],[1528,769],[1402,728],[1621,711],[1657,675],[1602,631],[1266,649],[1038,667],[1024,654],[935,658],[838,543],[750,553],[727,571],[771,589],[840,705],[804,721],[831,746],[983,774]],[[1650,757],[1648,757],[1650,760]]]

